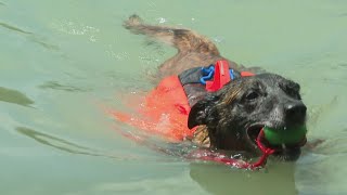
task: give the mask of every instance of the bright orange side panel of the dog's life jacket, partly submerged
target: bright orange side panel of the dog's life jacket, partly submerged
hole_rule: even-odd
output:
[[[149,133],[181,141],[194,133],[187,127],[190,109],[178,76],[170,76],[145,96],[137,115],[113,112],[113,116]]]

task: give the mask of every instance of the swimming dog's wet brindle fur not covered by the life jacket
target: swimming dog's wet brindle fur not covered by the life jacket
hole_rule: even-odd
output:
[[[227,60],[220,55],[214,42],[189,29],[146,25],[138,15],[131,15],[124,27],[178,49],[175,56],[159,66],[156,75],[158,80]],[[232,61],[229,63],[237,72],[254,70]],[[197,126],[191,140],[201,146],[216,150],[259,154],[255,139],[262,127],[285,131],[305,126],[306,106],[299,90],[299,84],[290,79],[261,73],[237,78],[217,92],[196,93],[192,98],[196,101],[190,101],[192,108],[188,127]],[[300,155],[300,146],[285,145],[275,156],[284,160],[296,160]]]

